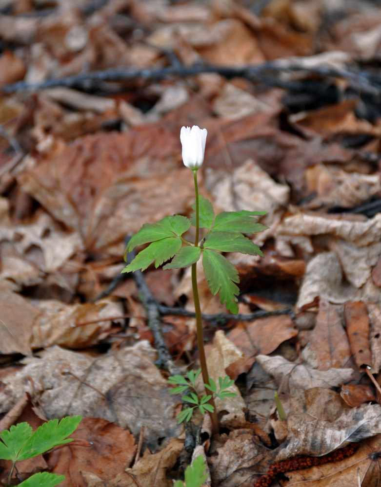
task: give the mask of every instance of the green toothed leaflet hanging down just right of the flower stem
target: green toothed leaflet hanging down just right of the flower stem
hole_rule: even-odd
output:
[[[213,296],[220,292],[221,304],[234,315],[238,313],[238,295],[240,290],[235,282],[240,282],[238,271],[221,254],[214,250],[204,249],[202,265],[204,267],[206,282]]]

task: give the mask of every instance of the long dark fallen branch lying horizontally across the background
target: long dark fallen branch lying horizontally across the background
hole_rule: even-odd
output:
[[[313,57],[313,56],[312,56]],[[18,81],[4,85],[2,92],[5,94],[15,93],[21,90],[38,91],[44,88],[52,88],[57,86],[65,86],[70,88],[77,88],[83,91],[89,91],[93,88],[99,87],[102,82],[126,82],[133,80],[150,80],[156,81],[167,78],[169,76],[175,77],[189,77],[199,75],[201,73],[217,73],[227,79],[233,77],[243,77],[250,79],[255,83],[265,83],[267,86],[276,86],[290,89],[294,83],[300,83],[301,75],[318,75],[322,78],[330,78],[331,80],[337,77],[347,80],[348,86],[355,92],[361,94],[369,94],[371,96],[379,96],[381,91],[380,75],[375,75],[373,71],[361,68],[357,65],[338,64],[337,67],[324,64],[314,65],[309,67],[303,58],[300,60],[279,59],[275,61],[264,62],[254,66],[239,66],[226,67],[214,65],[194,65],[181,66],[175,63],[172,66],[165,68],[154,69],[137,69],[133,67],[115,67],[103,71],[93,71],[91,73],[81,73],[79,75],[66,76],[62,78],[49,79],[40,83],[30,83],[27,81]],[[287,77],[284,75],[288,73]],[[298,79],[292,79],[296,75]]]

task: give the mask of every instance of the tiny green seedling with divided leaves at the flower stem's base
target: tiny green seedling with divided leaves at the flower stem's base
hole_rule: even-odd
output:
[[[234,380],[231,380],[228,376],[226,377],[219,377],[219,390],[217,392],[217,385],[215,381],[209,377],[209,384],[204,384],[205,389],[211,392],[211,394],[199,396],[196,390],[196,379],[200,375],[201,369],[197,372],[191,370],[187,372],[186,376],[188,381],[182,375],[172,375],[168,378],[168,383],[172,385],[178,385],[178,387],[174,387],[170,394],[181,394],[185,392],[187,389],[193,389],[195,392],[191,392],[190,395],[182,396],[182,400],[185,402],[189,402],[190,404],[194,404],[190,408],[183,409],[179,414],[176,416],[179,420],[179,423],[183,421],[189,421],[192,417],[192,414],[196,408],[199,408],[201,414],[205,414],[205,412],[214,412],[214,406],[208,404],[208,401],[213,397],[219,397],[220,399],[225,399],[225,397],[234,397],[237,394],[227,391],[227,389],[234,384]]]

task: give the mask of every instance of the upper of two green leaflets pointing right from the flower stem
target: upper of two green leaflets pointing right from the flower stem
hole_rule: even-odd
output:
[[[241,233],[262,232],[266,230],[267,226],[257,223],[253,217],[265,214],[265,211],[223,211],[216,216],[213,230]]]

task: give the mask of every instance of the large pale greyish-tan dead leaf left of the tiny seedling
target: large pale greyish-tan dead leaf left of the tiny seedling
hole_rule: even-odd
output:
[[[156,449],[159,438],[177,436],[178,399],[154,365],[156,352],[146,341],[94,357],[54,346],[27,359],[23,369],[2,378],[1,411],[10,410],[27,391],[32,377],[43,411],[49,417],[80,414],[102,417],[134,435],[145,425],[145,442]]]

